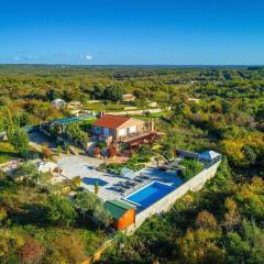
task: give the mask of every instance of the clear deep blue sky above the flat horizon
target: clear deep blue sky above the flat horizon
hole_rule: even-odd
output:
[[[0,63],[264,64],[264,1],[0,0]]]

